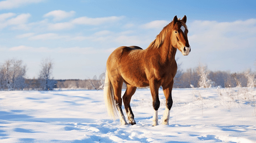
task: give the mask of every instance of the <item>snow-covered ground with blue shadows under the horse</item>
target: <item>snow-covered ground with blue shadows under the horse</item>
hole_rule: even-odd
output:
[[[256,89],[173,89],[172,96],[169,125],[162,125],[159,90],[153,127],[148,89],[132,98],[135,125],[108,117],[103,91],[0,91],[0,143],[256,143]]]

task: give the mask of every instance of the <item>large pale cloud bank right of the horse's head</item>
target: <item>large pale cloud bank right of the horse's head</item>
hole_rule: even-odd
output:
[[[243,69],[245,65],[253,66],[256,53],[256,19],[233,22],[196,20],[188,26],[191,52],[189,56],[180,57],[182,67],[196,67],[199,61],[214,71],[238,71],[237,67]],[[176,55],[181,56],[178,52]]]

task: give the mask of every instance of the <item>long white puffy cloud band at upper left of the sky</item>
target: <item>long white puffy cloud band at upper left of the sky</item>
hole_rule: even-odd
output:
[[[44,17],[53,16],[54,20],[63,20],[67,17],[73,16],[75,11],[66,12],[63,10],[54,10],[46,13]],[[37,22],[28,23],[28,19],[31,17],[30,13],[22,13],[16,16],[15,13],[3,13],[0,14],[0,29],[11,26],[11,30],[33,30],[33,31],[61,31],[70,30],[76,25],[106,25],[109,23],[117,22],[124,18],[123,16],[116,17],[101,17],[101,18],[88,18],[79,17],[65,22],[49,22],[48,19],[44,19]]]

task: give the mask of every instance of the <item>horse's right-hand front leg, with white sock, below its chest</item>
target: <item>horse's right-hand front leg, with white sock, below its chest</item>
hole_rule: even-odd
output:
[[[170,119],[170,110],[172,107],[172,86],[173,86],[173,81],[167,88],[163,88],[165,97],[166,97],[166,109],[163,115],[163,123],[162,124],[169,124],[169,119]]]

